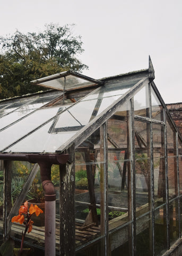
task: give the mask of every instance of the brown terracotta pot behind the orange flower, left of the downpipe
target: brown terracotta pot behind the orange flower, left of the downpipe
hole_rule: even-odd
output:
[[[33,225],[38,227],[44,227],[45,226],[45,203],[37,203],[34,199],[28,200],[28,206],[30,205],[37,205],[43,213],[40,213],[39,216],[36,216],[36,214],[33,214],[31,219],[34,222]]]

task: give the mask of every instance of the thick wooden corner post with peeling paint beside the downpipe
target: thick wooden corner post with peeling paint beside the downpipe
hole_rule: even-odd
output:
[[[70,159],[60,165],[59,184],[59,241],[61,256],[75,255],[75,152],[72,145],[66,153]]]

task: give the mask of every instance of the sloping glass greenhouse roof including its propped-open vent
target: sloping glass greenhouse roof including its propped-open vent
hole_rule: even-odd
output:
[[[69,71],[33,81],[59,90],[0,102],[0,151],[54,154],[78,146],[149,79],[145,69],[101,80]]]

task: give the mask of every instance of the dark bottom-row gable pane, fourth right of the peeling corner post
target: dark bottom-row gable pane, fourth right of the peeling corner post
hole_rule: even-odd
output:
[[[155,210],[154,246],[155,255],[167,251],[166,204]]]

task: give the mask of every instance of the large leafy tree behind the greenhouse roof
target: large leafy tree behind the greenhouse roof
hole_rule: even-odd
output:
[[[76,58],[83,52],[80,36],[73,25],[50,23],[39,33],[16,31],[0,37],[0,98],[14,97],[42,90],[30,81],[72,69],[88,68]]]

